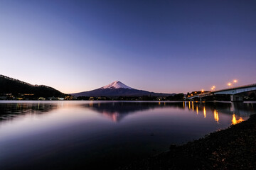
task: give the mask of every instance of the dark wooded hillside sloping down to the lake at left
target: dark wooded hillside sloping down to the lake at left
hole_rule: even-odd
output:
[[[35,97],[63,97],[65,94],[50,86],[32,85],[0,74],[0,94],[33,94]]]

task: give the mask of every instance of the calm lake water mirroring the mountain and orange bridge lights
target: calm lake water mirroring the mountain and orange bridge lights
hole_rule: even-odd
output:
[[[256,103],[0,101],[0,169],[114,169],[254,113]]]

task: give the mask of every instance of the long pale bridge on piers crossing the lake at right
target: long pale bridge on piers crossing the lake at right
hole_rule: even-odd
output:
[[[198,94],[194,96],[190,96],[186,99],[192,100],[193,98],[199,98],[200,101],[202,101],[202,98],[206,96],[215,96],[215,95],[221,95],[221,94],[228,94],[230,95],[230,101],[243,101],[242,93],[248,92],[248,91],[256,91],[256,84],[249,84],[245,86],[237,86],[229,89],[221,89],[218,91],[210,91],[203,94]]]

